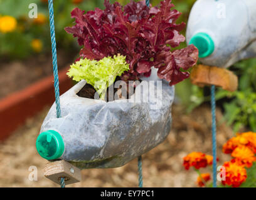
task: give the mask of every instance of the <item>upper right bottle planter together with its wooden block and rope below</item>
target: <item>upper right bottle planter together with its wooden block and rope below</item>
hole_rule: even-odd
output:
[[[217,186],[215,86],[232,92],[237,90],[237,76],[225,68],[256,56],[255,14],[253,0],[240,0],[235,4],[232,0],[200,0],[189,14],[187,42],[198,48],[202,63],[191,71],[191,82],[198,86],[211,85],[213,187]]]

